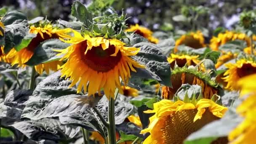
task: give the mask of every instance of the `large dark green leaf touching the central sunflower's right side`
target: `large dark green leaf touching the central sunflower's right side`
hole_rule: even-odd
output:
[[[166,56],[163,55],[160,48],[152,43],[137,43],[133,47],[140,48],[139,53],[133,56],[133,59],[146,66],[145,69],[137,69],[132,72],[132,78],[143,77],[155,79],[168,87],[171,85],[171,67]]]

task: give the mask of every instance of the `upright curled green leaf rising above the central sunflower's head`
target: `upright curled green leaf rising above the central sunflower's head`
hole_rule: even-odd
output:
[[[85,27],[89,27],[93,23],[93,15],[80,1],[75,1],[73,3],[71,14],[72,16],[75,16],[78,21],[83,22]]]

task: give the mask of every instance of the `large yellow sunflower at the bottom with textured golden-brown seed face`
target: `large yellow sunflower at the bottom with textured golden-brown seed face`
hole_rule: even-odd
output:
[[[143,144],[182,144],[191,133],[204,125],[221,118],[227,111],[210,99],[199,101],[170,101],[163,99],[154,104],[155,113],[149,118],[148,128],[141,133],[150,133]]]

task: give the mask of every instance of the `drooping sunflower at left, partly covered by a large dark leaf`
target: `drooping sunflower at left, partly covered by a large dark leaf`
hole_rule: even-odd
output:
[[[59,29],[53,27],[51,24],[46,24],[42,27],[31,26],[30,33],[36,34],[37,36],[31,40],[26,48],[16,52],[12,64],[18,64],[19,67],[24,67],[24,64],[33,56],[35,49],[41,42],[51,38],[68,38],[70,37],[67,35],[69,32],[71,32],[71,29]],[[49,73],[49,70],[56,71],[61,64],[61,61],[52,61],[36,65],[35,69],[39,74],[42,74],[43,70]]]

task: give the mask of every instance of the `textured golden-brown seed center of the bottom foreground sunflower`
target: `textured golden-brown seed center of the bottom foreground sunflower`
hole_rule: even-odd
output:
[[[183,141],[191,133],[199,130],[204,125],[219,119],[208,109],[205,110],[200,120],[193,122],[197,109],[181,110],[173,115],[167,116],[161,131],[165,144],[183,144]]]

